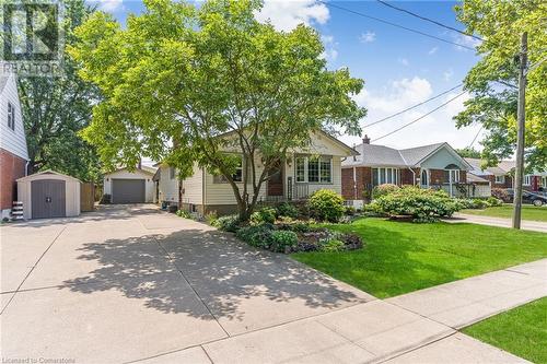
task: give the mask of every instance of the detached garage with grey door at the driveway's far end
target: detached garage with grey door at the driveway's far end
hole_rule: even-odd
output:
[[[103,193],[112,203],[154,202],[156,168],[139,165],[132,172],[119,168],[104,175]]]

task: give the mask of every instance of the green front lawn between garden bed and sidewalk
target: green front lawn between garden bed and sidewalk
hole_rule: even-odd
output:
[[[547,257],[547,235],[535,232],[383,219],[329,226],[359,234],[365,247],[292,257],[382,298]]]

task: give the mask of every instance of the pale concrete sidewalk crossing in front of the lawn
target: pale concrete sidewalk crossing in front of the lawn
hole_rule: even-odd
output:
[[[546,273],[544,259],[141,363],[526,363],[456,329],[545,296]]]

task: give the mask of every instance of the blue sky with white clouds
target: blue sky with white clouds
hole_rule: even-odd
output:
[[[454,12],[456,1],[388,1],[392,4],[428,16],[443,24],[463,30]],[[463,109],[469,96],[455,89],[443,96],[397,117],[366,127],[386,116],[421,103],[462,83],[469,69],[478,61],[474,50],[446,44],[400,30],[337,7],[383,19],[398,25],[473,47],[475,40],[456,32],[416,19],[385,7],[377,1],[266,0],[256,17],[271,22],[280,31],[290,31],[300,23],[316,28],[325,45],[324,57],[329,69],[348,67],[351,75],[364,80],[365,85],[356,102],[368,109],[361,120],[363,133],[374,144],[397,149],[438,142],[454,148],[473,144],[480,150],[480,126],[456,129],[452,119]],[[143,11],[141,1],[107,0],[100,8],[125,23],[129,13]],[[446,106],[386,138],[375,139],[426,115],[441,104],[456,97]],[[362,136],[361,136],[362,137]],[[361,143],[361,137],[340,136],[349,145]]]

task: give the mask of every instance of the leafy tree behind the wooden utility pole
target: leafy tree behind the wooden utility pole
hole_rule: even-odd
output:
[[[481,124],[488,131],[482,156],[489,164],[510,157],[516,143],[516,99],[520,40],[528,33],[529,71],[526,90],[526,151],[529,169],[547,168],[547,2],[543,0],[464,0],[456,7],[469,34],[485,42],[481,56],[465,79],[472,98],[456,117],[458,127]]]

